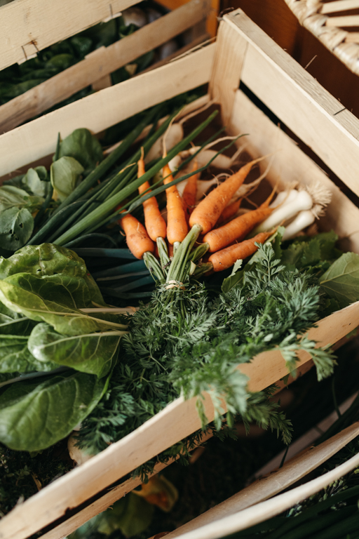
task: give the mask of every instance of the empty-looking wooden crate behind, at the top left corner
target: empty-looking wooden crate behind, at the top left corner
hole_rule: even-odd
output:
[[[100,22],[121,15],[138,0],[104,1],[15,0],[0,8],[0,69],[34,58],[41,49]],[[65,5],[64,5],[65,4]],[[72,13],[71,19],[69,13]],[[0,133],[32,119],[87,86],[111,85],[110,74],[183,32],[189,43],[166,58],[185,53],[208,39],[205,22],[210,0],[190,0],[134,34],[100,47],[77,64],[0,106]],[[18,24],[21,20],[23,23]],[[45,31],[46,30],[46,31]],[[11,37],[10,37],[11,36]]]

